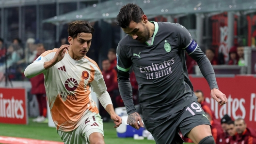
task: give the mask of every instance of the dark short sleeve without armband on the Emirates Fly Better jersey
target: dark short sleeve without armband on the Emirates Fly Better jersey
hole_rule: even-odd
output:
[[[116,48],[117,69],[123,72],[128,72],[131,68],[131,60],[127,57],[125,47],[118,44]]]

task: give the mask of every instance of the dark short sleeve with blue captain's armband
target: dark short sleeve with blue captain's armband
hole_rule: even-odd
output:
[[[189,55],[192,54],[198,47],[197,43],[192,39],[189,30],[182,25],[176,24],[178,27],[178,38],[180,48],[185,50]]]

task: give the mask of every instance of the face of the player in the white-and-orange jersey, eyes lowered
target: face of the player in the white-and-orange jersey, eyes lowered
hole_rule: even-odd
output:
[[[93,35],[91,33],[84,32],[78,34],[74,39],[69,36],[68,42],[72,45],[70,50],[78,58],[84,57],[90,49],[92,37]]]

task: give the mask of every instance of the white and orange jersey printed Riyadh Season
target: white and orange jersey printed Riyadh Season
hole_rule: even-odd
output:
[[[46,51],[34,62],[49,61],[57,50]],[[66,52],[61,61],[44,71],[44,75],[48,104],[57,130],[74,130],[87,118],[89,111],[98,114],[91,90],[100,93],[107,87],[95,61],[86,56],[74,60]]]

